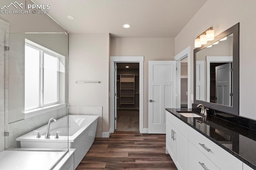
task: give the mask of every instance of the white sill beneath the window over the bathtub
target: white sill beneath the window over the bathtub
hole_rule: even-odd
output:
[[[51,111],[54,111],[54,110],[57,110],[57,109],[61,109],[63,107],[66,107],[66,103],[41,107],[41,108],[33,109],[33,110],[30,110],[30,111],[25,111],[24,112],[24,119],[28,119],[30,117],[42,115],[44,113],[48,113],[48,112],[51,112]]]

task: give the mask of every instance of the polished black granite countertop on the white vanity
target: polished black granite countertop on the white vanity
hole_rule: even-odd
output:
[[[256,131],[213,115],[203,118],[184,117],[178,112],[195,112],[193,109],[166,109],[178,119],[194,128],[236,158],[256,169]],[[202,116],[202,115],[201,115]],[[226,114],[225,117],[233,117]]]

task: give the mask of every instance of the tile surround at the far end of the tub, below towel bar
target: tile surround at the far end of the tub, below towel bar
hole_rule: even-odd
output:
[[[96,130],[96,138],[102,137],[102,106],[69,106],[69,115],[97,115],[98,123]]]

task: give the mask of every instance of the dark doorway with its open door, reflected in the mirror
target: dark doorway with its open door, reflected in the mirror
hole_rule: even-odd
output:
[[[232,106],[232,63],[210,63],[210,102]]]

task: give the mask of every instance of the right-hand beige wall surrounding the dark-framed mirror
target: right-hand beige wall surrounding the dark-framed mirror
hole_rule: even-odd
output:
[[[175,54],[189,45],[194,47],[194,39],[210,26],[213,26],[215,34],[218,35],[238,22],[240,22],[239,114],[256,119],[256,1],[208,0],[176,36]],[[191,56],[193,56],[193,48]],[[193,60],[189,64],[191,77],[193,77]],[[191,92],[193,93],[193,86],[191,86]]]

